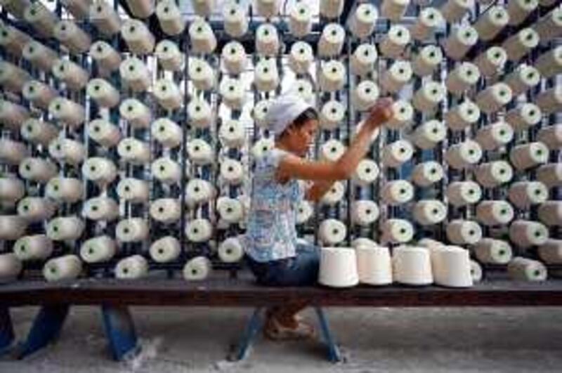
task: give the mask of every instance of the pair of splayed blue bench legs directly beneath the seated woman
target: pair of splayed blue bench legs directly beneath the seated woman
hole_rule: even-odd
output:
[[[263,311],[263,307],[257,307],[254,309],[254,313],[252,313],[251,318],[247,323],[246,328],[244,329],[244,334],[242,334],[240,343],[235,346],[233,353],[228,356],[228,360],[240,361],[247,358],[247,356],[249,355],[249,349],[256,339],[256,335],[263,328]],[[343,361],[339,352],[339,348],[334,341],[334,337],[332,336],[332,332],[330,332],[329,323],[324,310],[322,310],[322,308],[320,307],[315,307],[315,313],[318,317],[318,324],[320,325],[320,333],[322,339],[327,347],[328,360],[331,362]]]

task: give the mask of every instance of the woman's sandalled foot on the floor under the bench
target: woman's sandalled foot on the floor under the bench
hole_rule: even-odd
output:
[[[315,329],[296,316],[282,318],[277,313],[269,313],[263,334],[274,341],[314,339]]]

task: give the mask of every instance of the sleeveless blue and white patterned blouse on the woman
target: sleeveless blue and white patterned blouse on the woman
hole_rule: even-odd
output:
[[[285,150],[273,148],[257,160],[244,247],[251,259],[275,261],[296,255],[296,211],[304,192],[296,179],[284,184],[275,170]]]

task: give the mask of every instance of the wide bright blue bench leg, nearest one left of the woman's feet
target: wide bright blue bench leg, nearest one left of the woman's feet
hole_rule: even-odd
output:
[[[126,306],[102,306],[105,336],[112,356],[120,361],[138,353],[135,325]]]

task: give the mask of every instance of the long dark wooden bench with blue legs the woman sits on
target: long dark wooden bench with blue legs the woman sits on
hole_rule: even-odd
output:
[[[43,348],[58,336],[72,305],[101,306],[106,336],[116,360],[138,351],[129,306],[253,307],[254,313],[242,339],[230,355],[231,360],[241,360],[259,334],[265,308],[297,299],[309,301],[315,307],[328,358],[339,361],[341,355],[329,331],[324,307],[562,306],[562,280],[513,282],[499,276],[469,289],[400,285],[350,289],[259,287],[247,275],[236,279],[224,275],[204,282],[164,278],[134,281],[89,278],[60,283],[20,280],[0,284],[0,350],[24,358]],[[9,308],[21,306],[41,306],[41,309],[27,339],[14,346]]]

